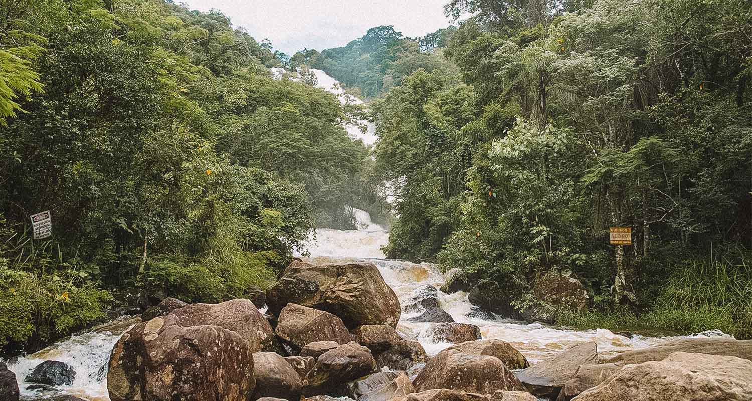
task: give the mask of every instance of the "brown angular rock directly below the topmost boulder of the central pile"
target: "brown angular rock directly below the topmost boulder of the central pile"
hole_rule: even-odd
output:
[[[352,340],[339,317],[294,303],[287,304],[282,309],[275,333],[293,348],[293,354],[298,354],[301,348],[311,342],[347,344]]]

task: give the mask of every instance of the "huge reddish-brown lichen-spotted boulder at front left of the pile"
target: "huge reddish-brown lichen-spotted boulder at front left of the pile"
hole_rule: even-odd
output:
[[[248,301],[250,303],[250,301]],[[137,324],[115,344],[112,401],[247,401],[256,387],[248,338],[175,315]]]

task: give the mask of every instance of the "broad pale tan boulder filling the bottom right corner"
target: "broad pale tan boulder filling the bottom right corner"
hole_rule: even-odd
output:
[[[662,361],[623,366],[576,401],[749,401],[752,361],[675,352]]]

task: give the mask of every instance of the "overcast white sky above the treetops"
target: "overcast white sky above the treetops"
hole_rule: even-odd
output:
[[[189,8],[222,11],[256,41],[293,55],[304,47],[344,46],[374,26],[393,25],[406,36],[423,36],[450,24],[447,0],[175,0]]]

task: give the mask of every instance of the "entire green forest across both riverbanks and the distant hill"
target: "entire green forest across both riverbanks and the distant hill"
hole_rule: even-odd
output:
[[[248,296],[353,207],[390,222],[387,258],[438,263],[505,317],[752,338],[745,0],[450,0],[446,29],[293,56],[171,0],[0,10],[3,351],[133,294]],[[364,118],[373,147],[345,130]],[[551,271],[586,310],[535,296]]]

